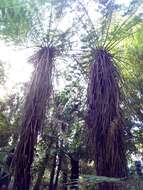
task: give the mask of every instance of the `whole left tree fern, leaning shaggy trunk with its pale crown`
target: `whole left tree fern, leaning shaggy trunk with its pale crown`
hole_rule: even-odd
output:
[[[37,7],[39,2],[34,5],[34,8]],[[54,3],[51,4],[44,2],[43,7],[43,11],[46,11],[46,8],[49,7],[51,10],[50,15],[48,16],[49,22],[46,32],[44,28],[42,28],[43,31],[40,33],[43,20],[39,20],[39,17],[42,17],[43,15],[41,15],[41,10],[39,8],[37,9],[39,12],[36,11],[37,17],[34,21],[32,20],[32,23],[35,25],[33,25],[29,31],[33,41],[35,40],[35,33],[38,32],[38,34],[40,34],[38,36],[40,40],[38,41],[36,38],[36,43],[40,44],[40,49],[31,58],[35,71],[33,73],[33,79],[25,101],[20,137],[13,160],[14,190],[21,188],[23,190],[29,189],[31,165],[34,158],[34,146],[36,144],[38,133],[44,122],[46,109],[49,108],[55,57],[59,55],[66,46],[65,39],[67,37],[67,32],[58,31],[52,20],[55,19],[55,15],[59,10],[61,14],[61,5],[59,8],[56,4],[56,11],[54,9]],[[37,21],[38,23],[36,23]]]

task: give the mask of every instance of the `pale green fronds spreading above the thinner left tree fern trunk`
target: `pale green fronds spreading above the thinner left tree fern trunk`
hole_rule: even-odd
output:
[[[1,0],[0,37],[20,45],[69,46],[68,31],[59,29],[66,1]],[[48,10],[48,11],[47,11]],[[67,42],[67,43],[66,43]]]

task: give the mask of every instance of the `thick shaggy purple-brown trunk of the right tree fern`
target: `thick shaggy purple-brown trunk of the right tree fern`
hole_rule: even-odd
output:
[[[94,154],[97,175],[125,177],[127,165],[118,86],[120,77],[111,54],[104,49],[97,49],[95,57],[90,69],[87,98],[89,145]],[[102,184],[98,189],[121,188]]]

